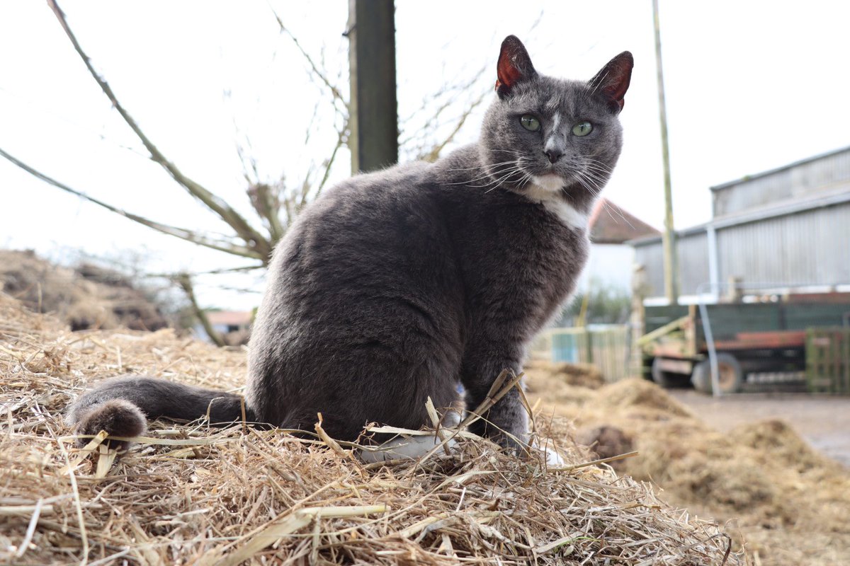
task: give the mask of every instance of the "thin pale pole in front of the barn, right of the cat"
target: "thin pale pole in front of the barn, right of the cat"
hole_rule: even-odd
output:
[[[661,31],[658,0],[652,0],[655,22],[655,66],[658,69],[658,112],[661,122],[661,154],[664,159],[664,291],[671,305],[679,301],[676,232],[673,228],[673,197],[670,182],[670,150],[667,145],[667,109],[664,100],[664,70],[661,67]]]

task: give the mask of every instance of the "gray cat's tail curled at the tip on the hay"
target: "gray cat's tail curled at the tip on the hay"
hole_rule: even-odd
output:
[[[233,423],[243,417],[241,395],[175,384],[165,379],[121,376],[106,379],[86,391],[65,412],[65,422],[75,434],[139,436],[147,430],[147,419],[175,418],[193,421],[209,415],[209,421]],[[244,417],[253,421],[253,412],[245,407]],[[85,446],[88,439],[78,439]],[[111,446],[123,449],[126,441],[112,440]]]

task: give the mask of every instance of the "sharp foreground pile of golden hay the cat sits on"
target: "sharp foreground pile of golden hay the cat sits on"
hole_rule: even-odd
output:
[[[578,466],[587,453],[566,440],[575,468],[558,472],[484,440],[424,462],[364,465],[280,431],[156,423],[98,470],[63,438],[60,412],[85,384],[121,372],[234,388],[245,354],[168,331],[70,333],[0,294],[0,559],[741,563],[725,556],[716,526],[604,465]]]

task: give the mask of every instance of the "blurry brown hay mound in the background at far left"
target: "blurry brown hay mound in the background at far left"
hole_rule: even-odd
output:
[[[150,297],[122,274],[93,264],[55,266],[31,250],[0,249],[0,291],[74,330],[159,330],[168,324]]]

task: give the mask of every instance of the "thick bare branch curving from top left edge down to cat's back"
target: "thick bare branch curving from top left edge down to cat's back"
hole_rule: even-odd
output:
[[[71,31],[71,27],[65,20],[65,14],[59,8],[56,0],[48,0],[48,5],[51,9],[53,9],[56,18],[59,20],[59,24],[62,25],[62,29],[65,31],[65,35],[67,35],[71,40],[74,49],[77,50],[77,54],[86,65],[86,68],[88,68],[88,72],[94,77],[94,80],[97,81],[100,89],[104,92],[106,97],[110,99],[110,102],[113,106],[115,106],[118,114],[120,114],[124,121],[127,122],[127,126],[130,126],[136,136],[139,137],[139,140],[144,144],[144,147],[150,152],[150,159],[161,165],[166,171],[168,171],[171,177],[189,191],[192,196],[199,199],[204,205],[207,205],[207,208],[215,212],[222,220],[227,222],[227,224],[229,224],[229,226],[232,227],[252,249],[255,249],[259,254],[269,255],[271,253],[271,246],[269,245],[268,238],[265,238],[262,234],[258,233],[235,209],[224,202],[223,199],[220,199],[206,188],[203,188],[200,183],[186,177],[178,170],[177,166],[167,160],[165,155],[157,149],[156,145],[154,145],[154,143],[152,143],[150,139],[144,135],[144,132],[142,132],[136,121],[133,120],[133,117],[129,115],[122,104],[118,102],[118,99],[116,98],[115,93],[112,92],[109,84],[98,75],[96,70],[94,70],[91,59],[88,58],[88,55],[82,50],[79,42],[77,42],[77,37],[74,36],[74,33]]]

